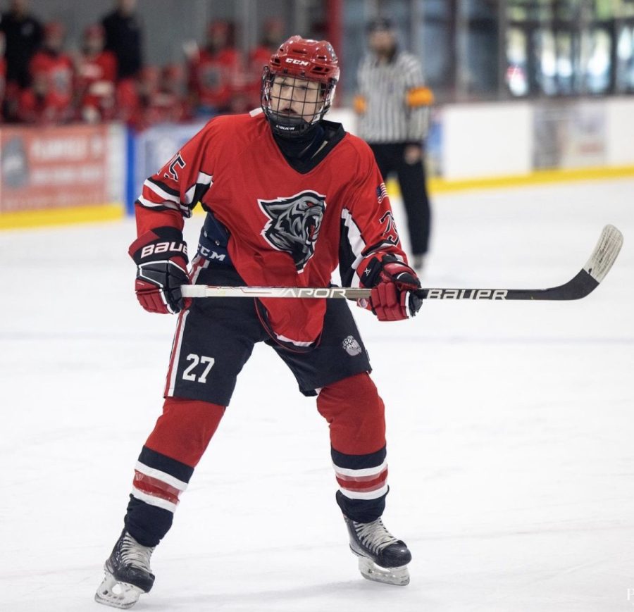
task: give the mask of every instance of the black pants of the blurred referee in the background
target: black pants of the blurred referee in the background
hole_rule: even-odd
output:
[[[384,180],[396,173],[407,213],[407,230],[412,255],[427,253],[431,211],[423,161],[405,161],[405,143],[370,144]]]

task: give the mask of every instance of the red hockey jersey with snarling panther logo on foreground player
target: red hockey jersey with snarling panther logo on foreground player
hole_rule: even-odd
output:
[[[327,287],[339,266],[344,285],[359,286],[372,256],[405,255],[371,149],[338,127],[335,146],[302,173],[282,155],[263,113],[212,119],[144,183],[139,235],[164,225],[182,230],[200,201],[227,228],[232,264],[248,285]],[[280,342],[316,342],[324,300],[261,302]]]

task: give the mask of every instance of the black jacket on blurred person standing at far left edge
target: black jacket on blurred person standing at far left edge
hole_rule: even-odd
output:
[[[6,44],[6,81],[28,87],[31,81],[29,63],[42,44],[42,24],[31,15],[19,19],[14,13],[7,12],[0,17],[0,31],[4,32]]]

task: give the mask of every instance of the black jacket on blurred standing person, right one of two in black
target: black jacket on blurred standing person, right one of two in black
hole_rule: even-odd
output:
[[[143,65],[141,23],[136,15],[113,11],[101,20],[106,32],[106,49],[117,56],[119,79],[134,77]]]

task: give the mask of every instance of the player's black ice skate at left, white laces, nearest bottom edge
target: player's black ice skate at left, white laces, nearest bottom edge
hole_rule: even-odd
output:
[[[106,577],[94,594],[94,601],[113,608],[132,608],[154,585],[150,557],[154,548],[139,544],[124,531],[108,557]]]

